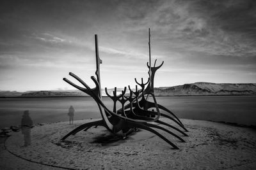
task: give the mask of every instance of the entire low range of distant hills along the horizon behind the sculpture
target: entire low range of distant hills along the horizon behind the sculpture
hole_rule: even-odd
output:
[[[113,95],[114,89],[108,89],[108,93]],[[123,89],[116,89],[120,94]],[[134,89],[132,89],[134,90]],[[173,87],[157,87],[154,89],[156,96],[221,96],[221,95],[256,95],[256,83],[207,83],[196,82]],[[129,92],[127,89],[126,92]],[[29,91],[12,92],[0,91],[0,97],[84,97],[88,96],[80,90],[56,90],[56,91]],[[106,92],[102,89],[102,96]]]

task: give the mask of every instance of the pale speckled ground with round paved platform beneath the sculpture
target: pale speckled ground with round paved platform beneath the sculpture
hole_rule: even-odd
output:
[[[74,125],[59,122],[36,126],[31,129],[31,146],[26,147],[21,132],[12,132],[5,141],[6,148],[1,138],[0,169],[256,168],[255,129],[183,119],[189,130],[189,137],[182,136],[186,143],[159,131],[180,150],[173,150],[151,132],[138,131],[118,140],[104,127],[92,127],[68,137],[65,142],[60,141],[67,132],[90,121],[93,120],[78,120]]]

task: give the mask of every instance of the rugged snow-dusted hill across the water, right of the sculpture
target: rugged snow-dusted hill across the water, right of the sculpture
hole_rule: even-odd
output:
[[[256,84],[196,82],[173,87],[159,87],[154,91],[156,96],[256,95]]]

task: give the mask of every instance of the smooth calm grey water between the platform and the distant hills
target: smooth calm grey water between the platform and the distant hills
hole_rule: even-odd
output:
[[[112,108],[110,99],[104,103]],[[157,103],[179,118],[215,120],[256,125],[256,96],[157,97]],[[90,97],[0,99],[0,128],[20,125],[24,110],[34,124],[68,121],[68,108],[74,106],[74,120],[100,118],[97,104]]]

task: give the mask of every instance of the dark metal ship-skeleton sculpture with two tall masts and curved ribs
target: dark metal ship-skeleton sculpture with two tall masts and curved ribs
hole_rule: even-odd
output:
[[[108,129],[111,133],[115,134],[116,136],[119,136],[120,138],[124,139],[132,132],[136,131],[136,129],[144,129],[146,131],[150,131],[159,138],[166,141],[166,143],[169,143],[174,149],[179,149],[177,145],[172,143],[169,139],[164,137],[161,133],[157,132],[155,129],[159,129],[161,131],[165,131],[168,134],[174,136],[175,138],[179,139],[181,142],[185,142],[184,139],[182,139],[179,135],[175,134],[172,131],[169,131],[168,129],[165,129],[164,127],[156,124],[152,124],[156,122],[157,124],[164,125],[166,127],[170,127],[171,129],[175,130],[179,134],[182,134],[183,136],[188,136],[184,131],[188,132],[186,127],[182,124],[182,122],[175,116],[172,111],[168,110],[161,104],[157,104],[156,97],[154,95],[154,76],[161,66],[163,66],[162,62],[159,66],[156,66],[156,60],[154,62],[154,67],[151,66],[151,55],[150,55],[150,29],[148,29],[148,46],[149,46],[149,62],[147,62],[148,66],[148,80],[145,83],[143,81],[143,78],[141,78],[141,82],[139,83],[136,78],[136,83],[140,86],[140,90],[138,90],[138,86],[136,85],[136,89],[132,90],[130,86],[128,86],[129,93],[128,95],[125,93],[127,90],[127,87],[124,87],[124,90],[122,90],[122,93],[117,95],[116,94],[116,87],[113,91],[113,96],[111,96],[108,93],[108,89],[105,88],[106,95],[113,101],[113,110],[110,110],[106,107],[106,105],[102,102],[102,96],[101,96],[101,86],[100,86],[100,64],[102,63],[102,60],[99,58],[99,49],[98,49],[98,39],[97,35],[95,35],[95,52],[96,52],[96,76],[97,79],[94,76],[91,76],[93,82],[95,83],[95,87],[91,88],[86,83],[84,83],[81,78],[76,76],[74,73],[69,73],[70,76],[74,77],[77,81],[79,81],[84,87],[80,87],[76,85],[75,83],[72,83],[67,78],[63,78],[64,81],[72,85],[73,87],[76,87],[76,89],[81,90],[82,92],[88,94],[89,96],[93,97],[97,105],[99,106],[99,111],[102,116],[102,120],[97,120],[94,122],[89,122],[83,125],[80,125],[73,131],[69,132],[67,135],[65,135],[61,140],[65,140],[70,135],[74,135],[79,131],[87,131],[90,129],[90,127],[97,127],[97,126],[103,126]],[[147,87],[146,87],[147,85]],[[148,97],[152,97],[154,102],[148,101]],[[116,103],[121,104],[121,108],[116,109]],[[155,111],[156,110],[156,111]],[[160,112],[166,111],[167,113]],[[170,120],[172,120],[175,124],[179,125],[180,128],[183,129],[180,130],[179,128],[167,124],[166,122],[163,122],[159,120],[160,117],[165,117]]]

